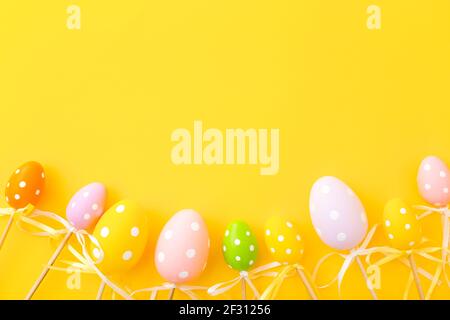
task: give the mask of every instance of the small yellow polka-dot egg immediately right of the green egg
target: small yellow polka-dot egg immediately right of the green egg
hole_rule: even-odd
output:
[[[304,245],[300,232],[291,221],[273,216],[266,222],[267,248],[278,262],[297,263],[301,260]]]

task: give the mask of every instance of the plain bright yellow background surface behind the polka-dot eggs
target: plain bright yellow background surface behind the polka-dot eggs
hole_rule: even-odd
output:
[[[66,27],[70,4],[81,8],[81,30]],[[366,27],[370,4],[382,9],[381,30]],[[283,214],[299,223],[312,271],[332,251],[309,218],[315,179],[346,181],[372,225],[389,198],[421,203],[415,176],[423,157],[450,161],[449,12],[447,0],[1,1],[0,187],[22,162],[37,160],[48,176],[41,209],[64,214],[71,195],[92,181],[107,185],[109,204],[139,201],[152,224],[148,253],[120,279],[133,289],[163,282],[155,241],[182,208],[198,210],[211,234],[209,264],[195,284],[236,275],[220,252],[225,226],[236,218],[257,233],[259,264],[271,261],[264,220]],[[279,174],[173,165],[170,134],[194,120],[220,129],[280,128]],[[438,244],[439,218],[424,228]],[[377,233],[374,244],[385,243]],[[0,298],[23,298],[53,249],[15,226],[0,252]],[[320,280],[339,263],[327,264]],[[401,298],[407,270],[392,263],[382,271],[380,298]],[[50,272],[35,297],[95,298],[95,276],[84,275],[80,290],[66,288],[67,276]],[[320,292],[338,298],[336,286]],[[239,289],[221,297],[238,298]],[[370,298],[356,266],[342,297]],[[448,298],[449,289],[434,297]],[[292,278],[280,298],[308,296]]]

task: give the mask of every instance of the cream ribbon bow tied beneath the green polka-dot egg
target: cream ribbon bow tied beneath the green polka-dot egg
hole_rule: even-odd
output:
[[[257,267],[251,271],[241,271],[239,272],[239,276],[231,279],[229,281],[220,282],[218,284],[213,285],[208,289],[208,294],[211,296],[217,296],[228,290],[231,290],[235,287],[241,280],[244,280],[250,289],[253,291],[256,299],[260,298],[260,294],[258,289],[256,289],[252,280],[258,279],[260,277],[276,277],[278,275],[277,272],[269,272],[268,270],[281,266],[279,262],[272,262],[265,264],[263,266]]]

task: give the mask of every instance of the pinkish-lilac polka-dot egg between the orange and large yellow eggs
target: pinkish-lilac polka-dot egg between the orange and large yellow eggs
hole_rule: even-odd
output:
[[[81,188],[66,208],[66,216],[78,230],[86,230],[95,226],[105,209],[106,188],[94,182]]]

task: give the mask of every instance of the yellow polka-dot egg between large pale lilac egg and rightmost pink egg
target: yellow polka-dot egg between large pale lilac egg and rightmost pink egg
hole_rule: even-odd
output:
[[[394,248],[411,249],[421,240],[417,216],[402,199],[392,199],[386,204],[383,220],[384,231]]]

